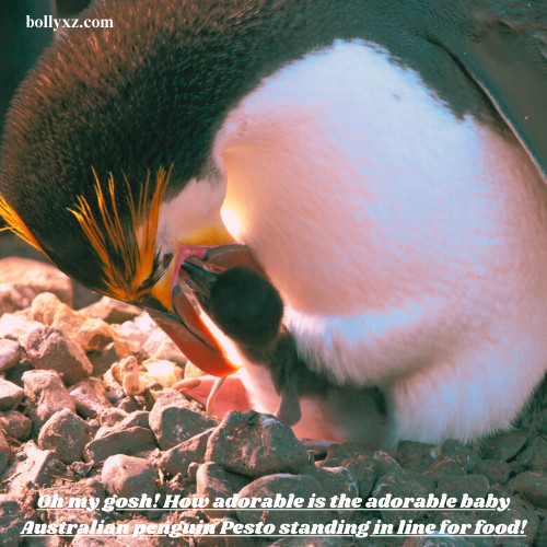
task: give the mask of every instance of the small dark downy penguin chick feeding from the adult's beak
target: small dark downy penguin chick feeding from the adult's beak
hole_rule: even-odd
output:
[[[247,366],[258,365],[269,373],[279,395],[276,417],[281,422],[296,426],[296,433],[303,438],[316,437],[321,431],[326,440],[341,441],[350,429],[351,438],[363,443],[383,443],[387,422],[383,393],[377,387],[338,385],[326,374],[310,370],[298,356],[293,336],[281,323],[283,302],[267,279],[246,266],[217,272],[194,257],[182,269],[182,280],[219,328],[237,344],[248,360]],[[266,391],[267,386],[268,382]],[[254,394],[255,389],[248,387]],[[303,422],[301,399],[314,407],[314,411],[305,412]],[[255,406],[270,407],[260,404],[259,397],[255,397]]]

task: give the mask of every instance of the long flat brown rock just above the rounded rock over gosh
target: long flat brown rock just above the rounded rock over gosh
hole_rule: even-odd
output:
[[[98,463],[116,454],[132,456],[155,447],[154,434],[148,428],[113,428],[102,437],[95,437],[85,446],[84,458]]]

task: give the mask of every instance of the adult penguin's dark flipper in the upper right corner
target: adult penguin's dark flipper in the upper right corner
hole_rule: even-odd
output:
[[[547,10],[543,11],[528,15],[534,21],[493,18],[473,37],[449,44],[449,49],[547,177]]]

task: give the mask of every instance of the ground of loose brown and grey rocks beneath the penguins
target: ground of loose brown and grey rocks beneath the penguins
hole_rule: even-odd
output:
[[[15,256],[18,255],[18,256]],[[23,257],[23,258],[21,258]],[[544,383],[515,429],[465,446],[399,443],[396,453],[357,445],[304,446],[272,417],[231,412],[219,421],[170,386],[195,368],[147,314],[75,287],[32,249],[0,236],[0,544],[5,546],[547,546],[547,388]],[[74,311],[78,310],[78,311]],[[428,498],[511,499],[508,511],[248,511],[193,507],[202,498],[340,497],[363,500]],[[163,508],[186,500],[189,508]],[[173,498],[178,496],[178,498]],[[57,497],[57,498],[56,498]],[[98,507],[38,507],[62,498]],[[116,498],[117,497],[117,498]],[[104,507],[138,498],[156,508]],[[143,498],[144,497],[144,498]],[[42,500],[42,502],[39,502]],[[184,503],[184,501],[181,501]],[[207,524],[385,525],[521,522],[525,537],[213,537]],[[194,525],[191,536],[22,537],[25,523],[128,524],[129,533],[159,524]],[[39,529],[39,528],[38,528]],[[190,528],[188,528],[190,529]],[[255,528],[256,529],[256,528]],[[298,528],[296,534],[302,534]],[[372,529],[372,528],[371,528]],[[124,532],[121,528],[120,532]],[[126,531],[127,532],[127,531]],[[196,533],[198,532],[198,533]]]

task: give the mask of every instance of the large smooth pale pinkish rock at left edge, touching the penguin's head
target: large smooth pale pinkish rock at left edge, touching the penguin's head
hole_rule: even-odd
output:
[[[53,292],[72,305],[72,282],[55,266],[28,258],[0,259],[0,283],[11,286],[21,296],[13,304],[18,310],[28,307],[42,292]]]

